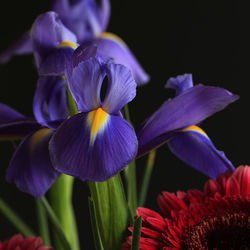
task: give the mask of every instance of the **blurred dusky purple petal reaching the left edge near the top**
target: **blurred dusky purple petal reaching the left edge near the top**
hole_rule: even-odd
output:
[[[0,54],[0,64],[7,63],[14,55],[31,54],[32,51],[30,34],[27,32]]]

